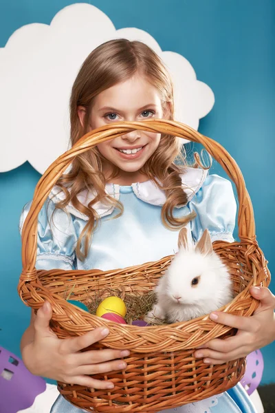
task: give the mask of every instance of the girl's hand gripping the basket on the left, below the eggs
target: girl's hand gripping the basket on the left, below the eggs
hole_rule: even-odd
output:
[[[108,329],[96,328],[81,337],[58,339],[50,329],[52,306],[47,301],[34,316],[34,340],[22,350],[25,366],[38,376],[85,385],[90,388],[113,388],[110,381],[100,381],[89,374],[123,370],[125,361],[114,360],[129,355],[128,350],[90,350],[83,348],[100,341],[109,333]]]

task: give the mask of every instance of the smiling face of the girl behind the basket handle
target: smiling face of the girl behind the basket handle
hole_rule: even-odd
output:
[[[78,116],[83,122],[84,108],[78,107]],[[89,130],[120,120],[138,121],[162,116],[162,101],[158,90],[144,76],[136,74],[96,96],[91,107]],[[148,179],[140,173],[140,169],[157,149],[160,137],[161,134],[132,131],[100,143],[98,150],[102,156],[121,171],[120,176],[112,182],[128,185]],[[109,162],[103,164],[106,175],[110,168]]]

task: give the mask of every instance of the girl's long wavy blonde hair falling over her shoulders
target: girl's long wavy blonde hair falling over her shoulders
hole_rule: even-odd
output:
[[[157,88],[162,99],[164,117],[173,120],[173,83],[159,56],[140,41],[126,39],[107,41],[89,54],[74,81],[70,98],[72,145],[88,131],[94,98],[100,92],[126,81],[137,72]],[[83,124],[78,117],[79,106],[86,109]],[[82,153],[72,162],[69,173],[64,174],[57,182],[58,187],[65,193],[65,200],[56,204],[56,208],[65,209],[71,202],[78,211],[89,218],[76,244],[76,255],[80,260],[87,257],[92,234],[100,222],[94,204],[100,201],[113,205],[118,209],[115,218],[123,213],[121,202],[105,192],[106,179],[102,171],[102,160],[97,147]],[[180,162],[177,162],[178,160]],[[162,134],[153,156],[142,167],[142,172],[166,193],[166,202],[162,207],[162,222],[169,229],[178,229],[195,217],[195,213],[182,218],[173,216],[175,207],[187,203],[187,196],[181,187],[179,176],[184,173],[185,168],[185,156],[179,139],[166,134]],[[113,165],[111,178],[118,176],[118,173],[118,167]],[[85,189],[96,193],[96,197],[87,206],[78,200],[78,194]]]

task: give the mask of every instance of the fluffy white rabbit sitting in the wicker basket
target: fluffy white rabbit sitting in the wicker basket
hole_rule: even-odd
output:
[[[228,268],[213,251],[208,230],[197,244],[188,243],[187,229],[179,232],[179,251],[155,288],[157,304],[144,319],[170,323],[201,317],[232,301]]]

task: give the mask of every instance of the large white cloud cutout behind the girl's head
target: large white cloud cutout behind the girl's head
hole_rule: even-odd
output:
[[[0,48],[0,172],[26,160],[43,173],[68,149],[69,95],[80,65],[95,47],[116,38],[140,40],[162,57],[175,85],[175,118],[197,129],[214,105],[214,94],[180,54],[162,52],[143,30],[115,30],[87,3],[63,8],[50,25],[16,30]]]

